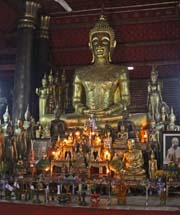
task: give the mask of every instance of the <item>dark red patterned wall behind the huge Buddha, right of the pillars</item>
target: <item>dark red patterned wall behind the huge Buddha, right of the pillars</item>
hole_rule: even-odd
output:
[[[131,111],[146,110],[147,81],[152,64],[157,64],[164,82],[163,98],[180,110],[180,15],[170,4],[162,7],[106,11],[117,47],[113,63],[133,65],[130,71]],[[91,63],[88,33],[99,14],[72,14],[51,19],[51,61],[67,69],[67,76],[79,65]],[[138,81],[137,81],[138,80]]]

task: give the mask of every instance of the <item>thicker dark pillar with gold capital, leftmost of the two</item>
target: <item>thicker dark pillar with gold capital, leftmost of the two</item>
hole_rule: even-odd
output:
[[[18,46],[14,77],[13,121],[23,117],[30,103],[34,29],[39,4],[26,1],[25,15],[18,24]]]

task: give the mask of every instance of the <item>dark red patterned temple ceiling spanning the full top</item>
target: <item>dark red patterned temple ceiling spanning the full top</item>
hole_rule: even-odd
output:
[[[118,45],[113,62],[133,64],[132,78],[146,78],[150,66],[158,64],[164,76],[180,71],[180,7],[166,0],[66,0],[67,12],[58,0],[37,0],[41,13],[51,16],[50,61],[73,70],[91,62],[88,32],[102,7],[114,28]],[[0,76],[15,70],[17,21],[22,0],[0,1]]]

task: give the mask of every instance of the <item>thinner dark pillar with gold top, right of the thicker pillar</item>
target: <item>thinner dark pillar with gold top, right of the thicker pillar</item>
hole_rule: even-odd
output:
[[[35,52],[34,52],[34,69],[32,75],[32,115],[38,119],[38,97],[35,95],[36,88],[41,86],[41,80],[44,73],[50,69],[49,65],[49,25],[50,17],[41,16],[39,29],[36,33]]]

